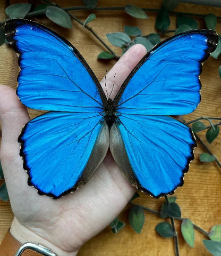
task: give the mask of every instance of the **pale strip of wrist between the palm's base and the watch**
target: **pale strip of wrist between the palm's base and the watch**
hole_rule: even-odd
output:
[[[14,218],[12,222],[12,226],[10,228],[10,232],[12,236],[18,240],[21,244],[27,241],[37,242],[48,249],[52,250],[58,256],[75,256],[77,255],[78,251],[74,252],[67,252],[58,247],[57,245],[53,244],[52,242],[48,241],[47,239],[37,235],[35,232],[31,231],[30,229],[24,227],[16,218]]]

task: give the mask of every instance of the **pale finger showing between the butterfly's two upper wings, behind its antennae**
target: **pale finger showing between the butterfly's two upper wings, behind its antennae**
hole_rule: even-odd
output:
[[[114,99],[125,79],[146,53],[146,48],[141,44],[136,44],[126,51],[121,59],[118,60],[114,67],[108,72],[106,79],[105,77],[102,79],[100,84],[104,92],[106,92],[105,83],[108,94],[111,93],[114,85],[111,94],[111,98]]]

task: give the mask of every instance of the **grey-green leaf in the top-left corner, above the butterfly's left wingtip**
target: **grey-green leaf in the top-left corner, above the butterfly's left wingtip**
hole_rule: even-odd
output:
[[[24,18],[31,9],[31,4],[19,3],[12,4],[5,9],[5,13],[10,19]]]

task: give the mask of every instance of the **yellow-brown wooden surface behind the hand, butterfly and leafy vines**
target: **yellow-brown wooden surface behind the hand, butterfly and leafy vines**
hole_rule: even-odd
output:
[[[6,1],[1,1],[0,20],[4,20],[4,9]],[[18,2],[18,1],[12,1]],[[25,1],[21,1],[25,2]],[[58,1],[55,1],[58,2]],[[80,1],[59,1],[62,6],[82,5]],[[140,7],[158,8],[162,1],[101,1],[99,6],[125,6],[126,4],[135,4]],[[180,12],[196,12],[207,14],[213,12],[219,14],[221,9],[214,7],[205,7],[192,4],[180,4],[176,11]],[[90,25],[104,39],[104,41],[112,47],[112,49],[121,54],[121,50],[112,46],[106,39],[106,33],[114,33],[116,31],[123,31],[125,25],[138,26],[142,29],[143,35],[154,33],[156,13],[149,12],[148,20],[140,20],[130,17],[124,11],[94,11],[96,13],[96,20],[92,21]],[[73,12],[79,19],[85,20],[91,11],[75,11]],[[104,47],[92,36],[89,31],[83,29],[78,23],[73,22],[71,30],[60,28],[54,25],[44,17],[39,17],[37,21],[54,29],[65,38],[67,38],[83,55],[90,67],[94,71],[99,80],[105,75],[106,68],[110,69],[115,60],[98,61],[97,55],[104,51]],[[198,19],[200,27],[205,28],[202,19]],[[171,16],[171,27],[175,29],[175,16]],[[221,22],[218,21],[217,31],[221,33]],[[0,83],[16,87],[16,75],[18,72],[16,54],[6,45],[0,46]],[[209,60],[203,65],[202,75],[200,76],[202,82],[202,101],[194,111],[193,114],[185,116],[186,121],[201,116],[221,116],[221,79],[217,72],[221,65],[221,58]],[[39,112],[30,110],[31,118],[38,115]],[[205,132],[199,133],[200,137],[205,141]],[[206,145],[213,151],[213,153],[221,161],[221,135],[211,145]],[[209,231],[210,228],[216,224],[221,224],[221,171],[215,163],[200,163],[199,155],[203,149],[198,146],[195,150],[195,159],[190,165],[190,171],[185,175],[185,182],[182,188],[175,191],[177,196],[177,203],[181,206],[182,217],[190,218],[194,223]],[[163,199],[153,199],[148,195],[141,194],[141,197],[134,202],[145,205],[155,210],[159,210]],[[141,234],[136,234],[129,226],[128,212],[130,206],[127,206],[120,215],[120,219],[126,223],[125,228],[118,234],[113,234],[110,227],[105,228],[100,234],[86,243],[78,255],[174,255],[174,242],[172,238],[164,239],[156,234],[155,226],[163,219],[159,219],[155,215],[146,212],[146,222]],[[0,241],[8,227],[10,227],[13,219],[13,213],[10,208],[10,203],[0,202]],[[180,222],[176,221],[176,228],[179,233],[179,245],[181,255],[211,255],[207,252],[202,243],[205,239],[198,231],[196,231],[196,241],[194,249],[184,242],[180,232]]]

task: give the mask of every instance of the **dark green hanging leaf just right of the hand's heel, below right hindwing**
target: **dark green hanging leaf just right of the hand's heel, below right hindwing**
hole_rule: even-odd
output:
[[[143,207],[135,205],[129,212],[129,222],[134,231],[140,234],[143,224],[145,223],[145,213]]]

